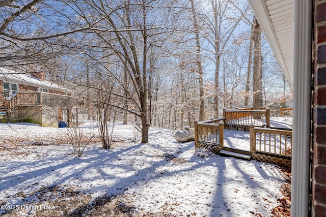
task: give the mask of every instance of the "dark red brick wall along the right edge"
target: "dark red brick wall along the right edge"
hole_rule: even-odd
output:
[[[326,1],[314,1],[312,216],[326,216]]]

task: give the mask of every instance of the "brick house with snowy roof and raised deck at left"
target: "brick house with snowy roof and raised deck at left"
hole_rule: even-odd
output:
[[[72,91],[44,80],[44,73],[21,73],[0,68],[0,118],[33,122],[44,127],[69,123],[77,99]]]

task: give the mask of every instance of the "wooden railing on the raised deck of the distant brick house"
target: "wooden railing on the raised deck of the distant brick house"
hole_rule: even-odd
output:
[[[49,92],[17,92],[10,99],[10,107],[16,106],[73,106],[78,98]]]

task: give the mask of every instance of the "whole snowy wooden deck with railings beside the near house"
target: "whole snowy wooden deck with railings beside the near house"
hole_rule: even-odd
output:
[[[215,153],[220,153],[222,150],[225,150],[238,154],[246,154],[254,160],[290,167],[292,131],[290,129],[267,128],[266,122],[268,122],[268,126],[270,123],[269,115],[266,115],[267,110],[268,109],[259,112],[252,111],[252,113],[240,110],[238,114],[235,114],[236,111],[232,110],[232,112],[229,113],[230,115],[228,118],[221,117],[202,122],[195,121],[196,147],[208,147]],[[251,120],[251,117],[255,117],[255,114],[260,115],[260,118],[256,118],[260,119],[260,121],[256,121],[256,124],[253,121],[248,124],[248,120]],[[266,120],[266,122],[264,122],[264,120]],[[226,123],[227,121],[229,122]],[[264,123],[262,125],[264,128],[259,126],[260,123]],[[239,132],[238,134],[241,134],[242,131],[243,134],[246,134],[246,142],[248,143],[249,140],[249,149],[227,147],[227,142],[225,141],[228,140],[228,137],[225,138],[225,135],[229,136],[226,133],[229,130],[236,130]],[[248,131],[249,138],[248,133],[246,133]],[[222,152],[222,154],[223,153],[224,152]]]

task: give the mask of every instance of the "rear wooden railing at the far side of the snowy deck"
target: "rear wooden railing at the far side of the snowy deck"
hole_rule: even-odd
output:
[[[251,122],[256,127],[270,126],[269,108],[266,110],[239,110],[229,109],[223,110],[225,117],[224,127],[229,130],[249,131]]]

